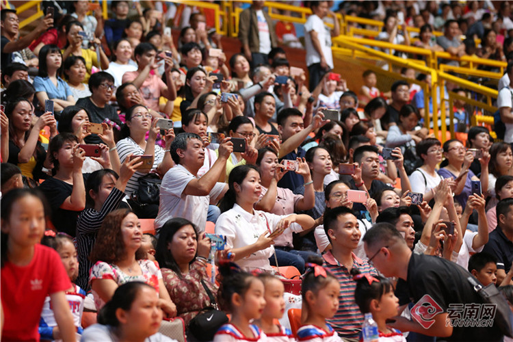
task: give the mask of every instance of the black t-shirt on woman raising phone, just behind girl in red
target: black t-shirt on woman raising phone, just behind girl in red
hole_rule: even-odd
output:
[[[86,183],[90,174],[83,174],[83,182]],[[73,185],[53,177],[44,181],[39,189],[47,198],[51,209],[51,222],[55,229],[75,237],[77,231],[77,218],[81,211],[65,210],[60,206],[64,200],[71,196]]]

